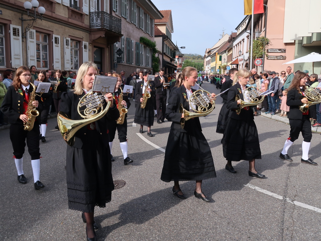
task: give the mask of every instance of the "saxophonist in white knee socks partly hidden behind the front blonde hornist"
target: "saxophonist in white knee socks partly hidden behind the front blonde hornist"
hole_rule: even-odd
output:
[[[128,109],[130,107],[130,101],[128,99],[128,95],[124,95],[120,88],[120,85],[122,83],[121,76],[119,74],[113,74],[113,77],[117,77],[117,84],[116,84],[116,89],[115,93],[113,94],[113,98],[116,102],[116,106],[119,110],[119,105],[123,105],[124,108]],[[119,97],[122,96],[122,101],[119,103]],[[109,147],[110,147],[110,154],[111,154],[111,148],[113,146],[113,141],[115,138],[116,134],[116,129],[118,132],[118,139],[119,139],[119,144],[121,151],[124,156],[124,164],[127,165],[131,162],[133,162],[132,159],[129,158],[128,156],[128,144],[127,144],[127,113],[125,114],[124,117],[124,123],[123,124],[117,124],[117,121],[110,121],[108,120],[108,133],[109,133]],[[113,155],[111,155],[111,161],[114,162],[115,159]]]

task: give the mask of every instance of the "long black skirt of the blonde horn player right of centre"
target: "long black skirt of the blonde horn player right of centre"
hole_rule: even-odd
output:
[[[228,161],[261,159],[261,149],[253,119],[229,118],[223,139],[223,155]]]

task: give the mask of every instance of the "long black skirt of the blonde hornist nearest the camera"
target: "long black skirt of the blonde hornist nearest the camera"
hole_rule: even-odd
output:
[[[67,196],[69,209],[93,212],[95,206],[104,208],[110,202],[114,184],[109,146],[93,141],[97,130],[86,134],[83,149],[67,145]]]

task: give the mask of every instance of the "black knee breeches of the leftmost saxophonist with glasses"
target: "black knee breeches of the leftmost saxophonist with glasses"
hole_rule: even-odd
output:
[[[39,124],[35,121],[33,129],[31,131],[25,131],[22,124],[10,125],[10,140],[13,147],[13,155],[17,159],[21,159],[24,154],[24,148],[28,146],[28,152],[31,156],[31,160],[37,160],[40,158],[39,148]]]

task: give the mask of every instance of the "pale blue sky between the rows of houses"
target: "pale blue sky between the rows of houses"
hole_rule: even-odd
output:
[[[221,38],[230,34],[244,19],[243,0],[152,0],[158,10],[172,10],[172,41],[184,46],[182,53],[205,54]]]

